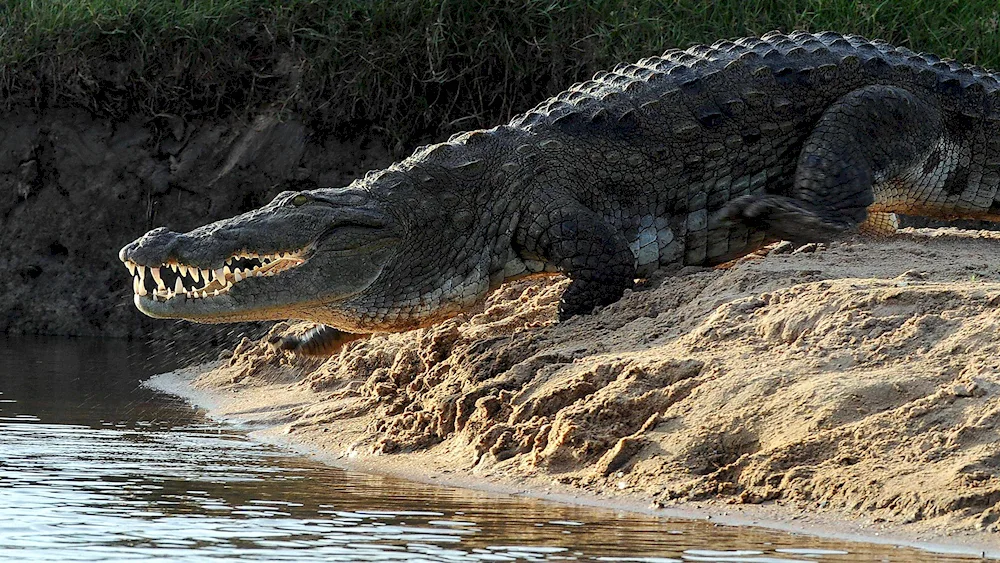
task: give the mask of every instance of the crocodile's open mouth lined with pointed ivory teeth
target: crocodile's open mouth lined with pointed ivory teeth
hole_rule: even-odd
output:
[[[305,263],[309,249],[275,254],[241,252],[229,257],[221,268],[200,268],[168,261],[158,266],[123,260],[132,274],[132,291],[153,301],[211,299],[228,293],[244,280],[274,276]]]

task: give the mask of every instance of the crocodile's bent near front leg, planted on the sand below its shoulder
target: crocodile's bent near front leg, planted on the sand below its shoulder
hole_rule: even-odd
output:
[[[635,279],[635,256],[622,234],[575,200],[542,201],[529,207],[515,242],[523,255],[572,280],[559,300],[559,320],[620,299]]]

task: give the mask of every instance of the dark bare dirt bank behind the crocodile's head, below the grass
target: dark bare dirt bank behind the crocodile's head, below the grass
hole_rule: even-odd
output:
[[[132,306],[124,244],[263,205],[283,189],[342,186],[391,160],[295,120],[112,122],[81,109],[0,120],[0,332],[202,337]],[[224,332],[232,327],[221,329]]]

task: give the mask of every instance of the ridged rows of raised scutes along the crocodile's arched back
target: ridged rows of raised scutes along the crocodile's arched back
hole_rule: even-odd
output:
[[[730,90],[737,90],[746,84],[748,73],[761,71],[779,78],[791,76],[799,84],[812,81],[811,86],[821,94],[822,77],[825,74],[831,80],[831,73],[838,81],[857,74],[865,76],[868,83],[912,83],[927,92],[945,94],[945,105],[954,106],[949,109],[962,110],[971,100],[973,113],[1000,115],[1000,82],[990,70],[856,35],[798,31],[671,49],[660,56],[620,64],[543,101],[515,117],[510,125],[530,131],[558,122],[596,124],[614,134],[614,127],[606,123],[627,121],[634,112],[643,113],[644,105],[648,110],[651,102],[670,100],[671,96],[680,96],[679,104],[685,90],[698,93],[698,81],[723,88],[728,83]],[[980,99],[984,97],[989,102]]]

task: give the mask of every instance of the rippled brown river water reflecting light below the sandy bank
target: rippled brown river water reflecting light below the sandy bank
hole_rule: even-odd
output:
[[[969,561],[338,470],[140,386],[179,358],[0,336],[0,561]]]

